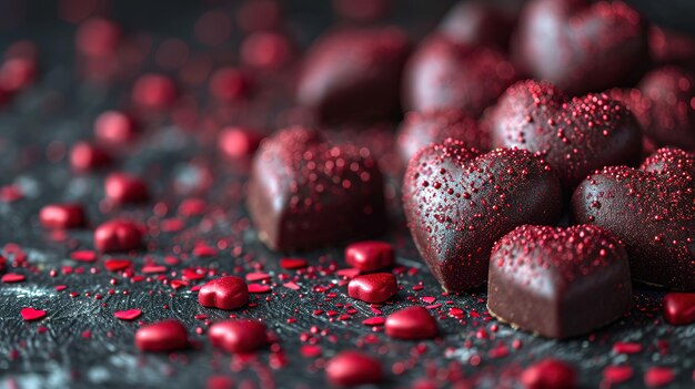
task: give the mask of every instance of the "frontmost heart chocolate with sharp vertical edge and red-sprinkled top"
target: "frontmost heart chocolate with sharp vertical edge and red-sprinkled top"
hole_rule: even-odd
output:
[[[491,314],[552,338],[590,332],[633,305],[625,248],[593,225],[506,234],[492,249],[487,289]]]

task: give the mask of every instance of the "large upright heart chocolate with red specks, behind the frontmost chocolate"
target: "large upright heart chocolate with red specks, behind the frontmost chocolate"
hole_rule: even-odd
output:
[[[461,291],[487,279],[496,239],[523,224],[558,219],[562,188],[550,165],[526,150],[476,155],[446,140],[411,160],[403,203],[432,274],[445,290]]]

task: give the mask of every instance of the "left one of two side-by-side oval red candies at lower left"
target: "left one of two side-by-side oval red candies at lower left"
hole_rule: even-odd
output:
[[[189,345],[185,327],[175,319],[153,323],[135,332],[135,346],[142,351],[177,351],[187,349]]]

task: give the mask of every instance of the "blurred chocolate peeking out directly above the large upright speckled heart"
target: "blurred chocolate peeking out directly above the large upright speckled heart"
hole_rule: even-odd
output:
[[[447,137],[462,141],[479,151],[490,150],[490,135],[472,116],[459,109],[409,112],[399,127],[399,153],[407,163],[417,151]]]

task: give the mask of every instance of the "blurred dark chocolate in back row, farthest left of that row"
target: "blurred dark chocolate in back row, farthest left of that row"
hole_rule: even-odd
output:
[[[389,119],[399,110],[409,50],[395,27],[330,31],[306,53],[296,100],[321,122]]]

